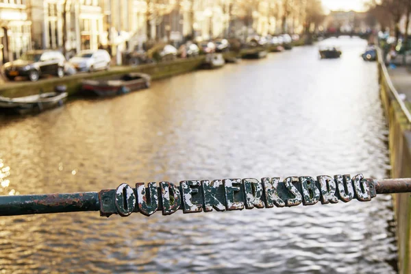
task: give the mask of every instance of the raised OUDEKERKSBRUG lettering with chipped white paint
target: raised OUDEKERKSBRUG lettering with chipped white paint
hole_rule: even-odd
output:
[[[191,213],[298,206],[300,203],[307,206],[318,201],[338,203],[340,199],[347,202],[354,197],[370,201],[376,195],[373,180],[364,179],[362,174],[352,180],[349,175],[316,178],[317,181],[305,176],[287,177],[284,182],[280,182],[279,177],[263,177],[261,181],[253,178],[194,180],[182,181],[179,187],[160,182],[159,188],[155,182],[150,182],[147,188],[144,183],[137,183],[135,189],[121,184],[116,190],[101,190],[100,211],[101,216],[128,216],[132,212],[150,216],[161,204],[163,214],[169,215],[179,209]],[[113,199],[107,199],[109,192]]]

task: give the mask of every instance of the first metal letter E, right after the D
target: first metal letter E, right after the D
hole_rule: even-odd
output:
[[[203,211],[203,197],[199,192],[200,181],[182,181],[183,212],[195,213]]]

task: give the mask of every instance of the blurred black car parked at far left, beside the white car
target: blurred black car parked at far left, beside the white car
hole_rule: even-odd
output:
[[[27,51],[21,58],[4,64],[5,76],[14,80],[17,76],[37,81],[41,75],[64,76],[66,58],[60,51]]]

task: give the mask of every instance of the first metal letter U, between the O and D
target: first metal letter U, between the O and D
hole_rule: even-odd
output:
[[[158,210],[158,192],[155,182],[149,183],[148,193],[146,193],[144,183],[137,183],[136,190],[138,211],[145,214],[145,216],[150,216]]]

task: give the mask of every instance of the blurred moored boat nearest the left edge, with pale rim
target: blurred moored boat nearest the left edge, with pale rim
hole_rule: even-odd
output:
[[[41,112],[50,108],[63,105],[67,99],[66,87],[55,88],[56,92],[45,92],[39,95],[29,95],[25,97],[8,98],[0,96],[0,110],[4,112],[14,112],[27,114]],[[59,91],[60,90],[60,91]]]

